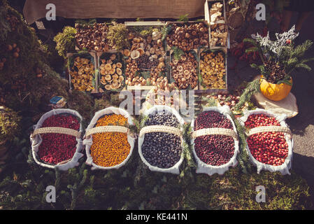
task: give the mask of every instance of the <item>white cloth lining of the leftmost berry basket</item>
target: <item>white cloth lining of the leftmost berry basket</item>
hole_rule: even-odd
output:
[[[41,116],[41,119],[38,120],[38,123],[35,125],[35,128],[34,130],[37,130],[38,128],[41,128],[41,126],[43,125],[43,122],[51,117],[51,116],[55,116],[57,114],[60,114],[60,113],[69,113],[73,116],[76,116],[78,118],[80,118],[80,120],[83,120],[82,116],[80,116],[80,114],[77,112],[77,111],[73,111],[71,109],[53,109],[52,111],[49,111],[45,114],[43,114],[43,116]],[[80,133],[83,132],[83,127],[82,127],[82,123],[80,123],[80,130],[79,130]],[[34,161],[38,164],[38,165],[41,165],[42,167],[47,167],[47,168],[51,168],[51,169],[54,169],[55,167],[57,167],[58,169],[60,170],[68,170],[68,169],[71,169],[73,167],[77,167],[79,165],[79,162],[78,160],[80,158],[83,157],[83,153],[81,153],[81,151],[83,150],[83,146],[82,146],[82,139],[81,138],[76,138],[76,141],[78,142],[78,144],[76,144],[76,152],[74,153],[73,155],[73,158],[69,161],[69,162],[66,162],[62,165],[48,165],[48,164],[45,164],[43,162],[40,162],[38,161],[38,155],[37,155],[37,152],[38,152],[38,147],[41,145],[41,135],[40,134],[37,134],[34,138],[33,137],[30,137],[31,139],[31,151],[32,151],[32,154],[33,154],[33,158],[34,158]]]

